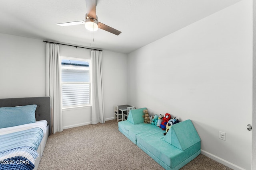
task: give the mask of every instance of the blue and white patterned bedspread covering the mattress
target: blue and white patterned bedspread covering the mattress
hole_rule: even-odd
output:
[[[0,170],[32,170],[42,138],[41,128],[0,135]]]

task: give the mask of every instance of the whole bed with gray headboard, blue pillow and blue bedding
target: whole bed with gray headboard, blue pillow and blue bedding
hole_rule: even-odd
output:
[[[4,114],[10,120],[10,110],[14,110],[12,121],[6,123]],[[26,112],[24,120],[19,117],[22,111]],[[0,170],[36,170],[52,131],[51,122],[50,97],[0,99]]]

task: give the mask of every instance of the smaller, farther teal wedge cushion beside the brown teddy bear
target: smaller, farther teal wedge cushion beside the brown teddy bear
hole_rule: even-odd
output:
[[[130,121],[132,124],[138,124],[144,122],[144,115],[143,110],[147,109],[146,107],[140,109],[132,109],[129,112],[127,117],[127,121]]]

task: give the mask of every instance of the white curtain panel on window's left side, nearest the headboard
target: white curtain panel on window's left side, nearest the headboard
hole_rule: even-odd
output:
[[[59,45],[46,43],[46,96],[51,97],[52,133],[62,129],[62,94]]]

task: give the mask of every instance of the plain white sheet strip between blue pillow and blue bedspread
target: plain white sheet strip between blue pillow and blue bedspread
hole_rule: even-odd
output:
[[[32,129],[32,128],[35,128],[35,127],[41,128],[44,132],[44,135],[45,135],[46,130],[47,130],[47,123],[48,122],[46,120],[39,120],[39,121],[36,121],[35,123],[29,123],[29,124],[25,124],[25,125],[18,125],[18,126],[1,128],[0,129],[0,135],[5,135],[5,134],[8,134],[8,133],[24,131],[24,130]]]

